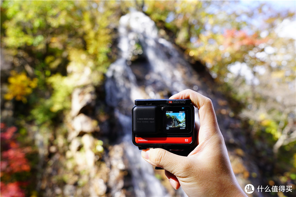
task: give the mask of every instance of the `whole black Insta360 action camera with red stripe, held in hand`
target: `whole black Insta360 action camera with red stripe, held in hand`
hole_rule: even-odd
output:
[[[196,146],[190,99],[139,99],[132,110],[132,140],[139,149],[191,150]]]

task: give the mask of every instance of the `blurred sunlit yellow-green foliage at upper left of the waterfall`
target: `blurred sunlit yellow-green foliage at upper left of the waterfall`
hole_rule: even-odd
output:
[[[67,110],[71,105],[73,88],[101,84],[112,61],[108,58],[113,31],[109,28],[109,21],[118,17],[111,8],[117,4],[3,1],[2,9],[7,19],[2,24],[5,29],[2,44],[11,56],[20,59],[14,66],[26,65],[29,67],[26,69],[28,74],[39,80],[38,90],[33,93],[36,96],[32,99],[44,99],[35,99],[36,106],[45,102],[44,108],[53,113]],[[34,72],[29,72],[31,70]],[[12,89],[15,90],[14,87]],[[48,94],[50,98],[46,96]],[[6,98],[9,95],[11,99],[11,93]],[[21,96],[17,98],[25,99]],[[53,117],[48,110],[40,110],[36,106],[31,114],[37,122],[46,122],[46,118]]]

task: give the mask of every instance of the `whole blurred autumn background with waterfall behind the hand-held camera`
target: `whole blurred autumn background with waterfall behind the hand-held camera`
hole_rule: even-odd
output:
[[[1,196],[186,196],[131,143],[134,99],[186,88],[250,196],[295,196],[295,6],[1,1]]]

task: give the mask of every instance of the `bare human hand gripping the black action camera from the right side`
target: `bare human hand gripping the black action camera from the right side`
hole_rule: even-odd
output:
[[[198,145],[187,157],[161,148],[143,150],[142,157],[163,168],[171,185],[182,186],[188,196],[246,196],[234,176],[212,101],[192,90],[170,99],[191,99],[198,108]]]

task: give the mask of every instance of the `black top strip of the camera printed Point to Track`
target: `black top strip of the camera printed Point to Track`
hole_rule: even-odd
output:
[[[186,104],[190,105],[190,99],[136,99],[135,105],[174,105]]]

